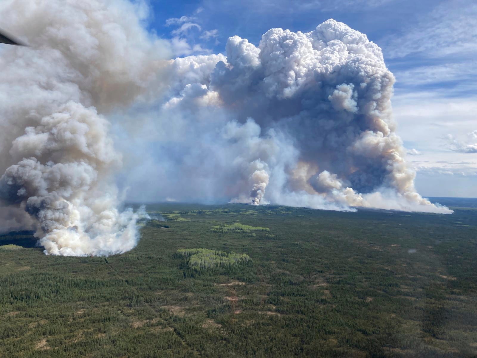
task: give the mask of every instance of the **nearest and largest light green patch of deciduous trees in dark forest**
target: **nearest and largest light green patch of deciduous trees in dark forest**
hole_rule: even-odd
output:
[[[187,265],[197,271],[251,262],[249,255],[245,253],[226,253],[209,249],[179,249],[177,253],[186,257]]]

